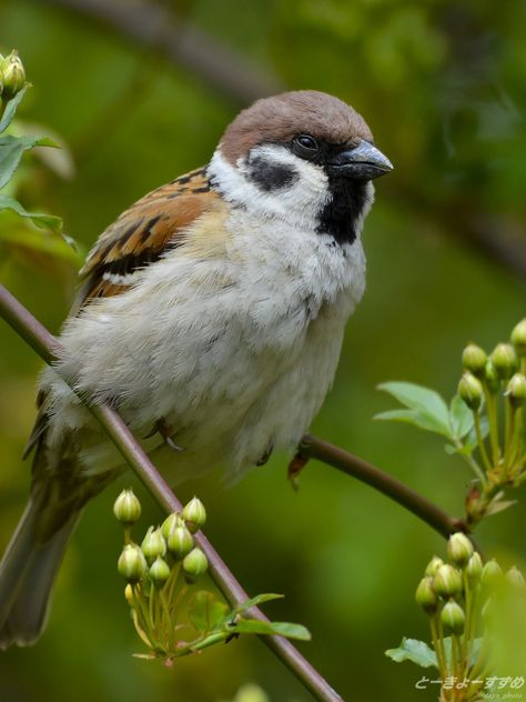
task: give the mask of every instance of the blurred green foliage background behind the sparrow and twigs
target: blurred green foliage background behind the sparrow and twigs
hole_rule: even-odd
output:
[[[500,3],[498,11],[489,0],[164,4],[291,88],[348,100],[395,163],[377,184],[366,223],[368,289],[313,431],[459,513],[469,481],[461,458],[446,460],[439,442],[411,427],[372,422],[387,409],[374,388],[408,380],[452,397],[464,344],[474,338],[490,348],[525,313],[524,281],[463,240],[474,223],[490,225],[497,239],[500,225],[524,225],[526,4]],[[84,251],[134,199],[206,162],[240,108],[199,71],[169,66],[42,0],[0,4],[0,52],[12,47],[34,86],[18,119],[59,134],[75,169],[72,177],[69,160],[53,169],[30,157],[17,197],[27,209],[62,215]],[[2,219],[1,227],[11,232],[0,242],[1,282],[57,331],[75,265],[31,245],[37,230],[19,230],[20,220]],[[524,231],[516,245],[524,251]],[[29,465],[20,454],[34,419],[40,362],[3,324],[0,344],[3,548],[27,497]],[[209,505],[206,533],[251,594],[285,593],[269,614],[310,629],[313,641],[301,650],[345,699],[434,699],[433,691],[415,690],[414,671],[392,665],[383,651],[404,632],[426,636],[413,589],[439,538],[326,467],[310,464],[294,494],[285,465],[285,457],[275,457],[233,488],[212,477],[184,485],[180,497],[196,492]],[[120,530],[111,514],[122,484],[88,509],[42,641],[0,655],[2,702],[310,700],[257,641],[215,646],[171,671],[131,656],[134,635],[114,574]],[[159,508],[134,487],[146,519],[159,522]],[[478,539],[505,565],[524,569],[525,530],[519,494],[519,504],[492,518]],[[254,688],[242,696],[249,683],[264,693]]]

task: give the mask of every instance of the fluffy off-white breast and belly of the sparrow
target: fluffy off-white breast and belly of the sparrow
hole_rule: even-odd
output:
[[[160,418],[172,425],[185,451],[160,448],[154,459],[178,474],[218,463],[236,473],[270,445],[293,449],[331,385],[364,290],[360,239],[341,248],[242,209],[225,227],[221,255],[174,250],[133,289],[69,321],[61,338],[64,371],[80,390],[117,402],[139,437]],[[87,415],[52,371],[43,385],[55,398],[50,434],[60,442],[63,418],[75,427]],[[120,460],[105,444],[83,458],[91,470]]]

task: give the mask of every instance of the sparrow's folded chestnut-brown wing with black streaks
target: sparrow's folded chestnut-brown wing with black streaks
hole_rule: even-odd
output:
[[[176,245],[181,232],[212,209],[218,198],[205,169],[199,169],[135,202],[90,251],[80,271],[82,285],[72,314],[90,300],[119,294],[132,285],[134,273]]]

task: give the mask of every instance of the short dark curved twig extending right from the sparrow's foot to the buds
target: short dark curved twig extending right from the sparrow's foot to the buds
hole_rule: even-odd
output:
[[[402,507],[405,507],[406,510],[416,514],[416,517],[426,522],[426,524],[429,524],[429,526],[446,539],[455,531],[468,531],[467,525],[462,519],[451,517],[441,510],[439,507],[427,500],[427,498],[424,498],[407,485],[404,485],[404,483],[396,480],[393,475],[322,439],[317,439],[312,434],[305,434],[300,444],[299,453],[305,459],[312,458],[327,463],[338,471],[352,475],[375,490],[383,492]]]

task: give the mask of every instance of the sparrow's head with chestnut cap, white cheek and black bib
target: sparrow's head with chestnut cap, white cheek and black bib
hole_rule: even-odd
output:
[[[371,181],[392,169],[353,108],[301,90],[243,110],[226,128],[210,173],[231,202],[352,243],[373,201]]]

